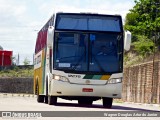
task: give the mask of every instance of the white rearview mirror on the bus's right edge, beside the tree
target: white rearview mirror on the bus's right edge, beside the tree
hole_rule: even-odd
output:
[[[128,51],[131,46],[131,32],[125,31],[124,49]]]

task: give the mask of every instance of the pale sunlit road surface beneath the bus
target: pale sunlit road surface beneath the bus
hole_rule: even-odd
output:
[[[102,106],[102,101],[95,101],[93,102],[92,106],[80,106],[78,105],[77,101],[67,101],[63,99],[58,99],[58,104],[56,106],[54,105],[48,105],[45,103],[37,103],[36,96],[33,95],[18,95],[18,94],[0,94],[0,111],[61,111],[61,114],[64,114],[65,111],[94,111],[99,112],[111,112],[111,113],[117,113],[117,112],[127,112],[127,111],[135,111],[135,112],[160,112],[160,106],[153,106],[153,105],[144,105],[144,104],[131,104],[131,103],[113,103],[112,109],[106,109]],[[74,112],[73,112],[74,114]],[[1,119],[1,118],[0,118]],[[3,118],[4,120],[5,118]],[[16,118],[15,118],[16,119]],[[45,118],[32,118],[32,119],[69,119],[69,120],[75,120],[75,117],[45,117]],[[159,120],[159,117],[77,117],[76,120],[106,120],[106,119],[112,119],[112,120],[124,120],[124,119],[140,119],[140,120]],[[7,119],[9,120],[9,119]],[[12,118],[13,120],[13,118]]]

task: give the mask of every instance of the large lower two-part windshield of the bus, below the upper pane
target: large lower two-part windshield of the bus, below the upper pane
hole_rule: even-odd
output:
[[[122,64],[119,39],[120,34],[57,32],[54,67],[73,71],[118,72]]]

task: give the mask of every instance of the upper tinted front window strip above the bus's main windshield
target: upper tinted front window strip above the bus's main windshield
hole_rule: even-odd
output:
[[[56,29],[120,32],[120,17],[58,15]]]

